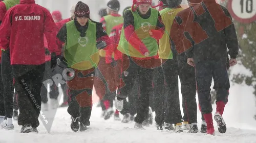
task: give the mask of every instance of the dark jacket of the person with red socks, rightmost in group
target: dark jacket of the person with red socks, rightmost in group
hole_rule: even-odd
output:
[[[194,62],[226,61],[227,48],[230,58],[237,58],[238,39],[232,18],[215,0],[204,0],[178,13],[172,29],[179,27],[183,28],[179,31],[182,35],[178,34],[183,39],[183,46],[171,36],[176,50],[179,53],[186,51],[187,57],[194,58]]]

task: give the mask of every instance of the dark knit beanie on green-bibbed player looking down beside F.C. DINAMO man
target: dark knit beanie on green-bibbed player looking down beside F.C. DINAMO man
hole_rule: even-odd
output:
[[[75,11],[74,11],[75,17],[86,17],[90,18],[90,9],[87,4],[84,4],[83,2],[79,1],[76,4]]]

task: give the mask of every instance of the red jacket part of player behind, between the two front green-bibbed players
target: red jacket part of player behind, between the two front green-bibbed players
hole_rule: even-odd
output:
[[[112,56],[112,53],[114,53],[114,59],[115,60],[121,60],[122,59],[122,53],[117,50],[117,46],[120,40],[121,31],[122,31],[123,23],[120,25],[117,25],[112,28],[110,33],[110,40],[111,40],[111,46],[108,50],[106,50],[106,63],[111,63],[111,61],[108,59]]]

